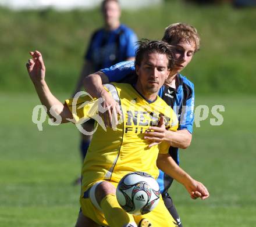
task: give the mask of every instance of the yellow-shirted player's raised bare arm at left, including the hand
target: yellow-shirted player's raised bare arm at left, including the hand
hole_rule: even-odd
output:
[[[29,59],[26,67],[42,105],[47,107],[47,113],[51,118],[61,116],[62,123],[68,122],[66,119],[72,119],[72,114],[63,103],[52,95],[45,82],[45,66],[41,53],[39,51],[34,51],[30,52],[30,55],[32,56],[32,59]]]

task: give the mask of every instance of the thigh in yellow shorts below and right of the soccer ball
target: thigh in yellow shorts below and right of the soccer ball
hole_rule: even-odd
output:
[[[162,197],[159,199],[159,203],[157,207],[154,208],[154,210],[152,210],[148,214],[134,216],[134,219],[136,219],[136,223],[138,223],[142,218],[147,218],[151,222],[152,226],[177,226],[175,219],[173,219],[172,215],[170,215],[169,211],[165,207]]]

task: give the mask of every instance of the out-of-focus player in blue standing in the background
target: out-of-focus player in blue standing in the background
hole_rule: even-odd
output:
[[[129,27],[120,24],[121,9],[117,0],[104,0],[101,5],[104,27],[96,30],[91,36],[81,76],[77,81],[74,94],[80,91],[86,75],[110,67],[118,62],[134,60],[137,36]],[[94,121],[86,122],[83,127],[88,135],[83,135],[80,144],[81,157],[84,160],[90,144]]]

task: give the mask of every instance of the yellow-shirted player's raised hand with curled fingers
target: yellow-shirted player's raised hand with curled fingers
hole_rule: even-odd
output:
[[[45,78],[45,66],[44,61],[42,60],[42,55],[39,51],[29,52],[32,56],[32,59],[29,59],[26,67],[29,72],[32,82],[44,81]]]

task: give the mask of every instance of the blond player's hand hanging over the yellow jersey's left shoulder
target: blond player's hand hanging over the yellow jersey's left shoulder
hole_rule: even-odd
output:
[[[116,128],[118,125],[118,116],[122,116],[119,104],[112,98],[112,96],[105,92],[102,95],[103,102],[101,103],[104,108],[104,113],[101,114],[106,127]]]

